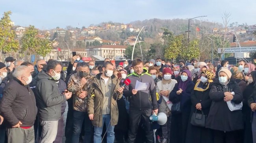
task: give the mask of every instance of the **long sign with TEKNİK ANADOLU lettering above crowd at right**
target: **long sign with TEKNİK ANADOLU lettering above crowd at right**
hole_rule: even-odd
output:
[[[236,47],[236,48],[224,48],[224,52],[221,52],[221,48],[218,48],[218,53],[241,53],[241,52],[256,52],[256,47]]]

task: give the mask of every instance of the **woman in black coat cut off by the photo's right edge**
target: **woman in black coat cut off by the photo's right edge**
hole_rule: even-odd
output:
[[[246,141],[248,142],[244,142],[244,143],[256,143],[256,71],[252,71],[249,74],[249,78],[248,78],[248,82],[249,85],[248,87],[248,91],[247,91],[247,97],[248,98],[248,106],[250,107],[249,109],[246,108],[246,117],[247,117],[247,121],[245,122],[245,133],[247,133],[245,135],[245,139],[247,139]],[[245,99],[247,98],[245,97]],[[249,127],[250,126],[250,127]],[[250,141],[250,142],[249,142]]]

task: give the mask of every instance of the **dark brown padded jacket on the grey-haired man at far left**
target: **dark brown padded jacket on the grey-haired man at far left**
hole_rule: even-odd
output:
[[[33,91],[13,78],[4,89],[0,110],[9,127],[17,125],[19,121],[22,127],[33,126],[37,114]]]

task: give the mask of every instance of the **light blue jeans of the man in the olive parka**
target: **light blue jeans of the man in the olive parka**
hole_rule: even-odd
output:
[[[101,134],[102,134],[102,129],[104,123],[106,124],[106,129],[107,129],[107,143],[114,143],[115,140],[115,132],[114,128],[115,126],[111,126],[109,123],[111,121],[111,116],[110,114],[107,115],[102,115],[102,127],[94,127],[94,143],[101,143]],[[105,132],[103,133],[103,135]]]

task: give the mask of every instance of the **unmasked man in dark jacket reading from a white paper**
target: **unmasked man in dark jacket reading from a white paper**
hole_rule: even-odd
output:
[[[134,60],[132,62],[132,67],[134,72],[127,77],[131,83],[124,87],[124,96],[131,97],[128,141],[129,143],[134,143],[139,123],[142,121],[145,127],[146,142],[154,143],[154,132],[151,127],[149,116],[152,115],[152,112],[158,114],[155,83],[151,75],[148,74],[147,69],[143,68],[141,59]],[[138,81],[141,83],[148,83],[147,87],[141,87],[143,88],[141,91],[136,90],[135,85]]]

